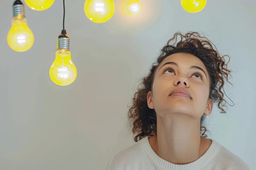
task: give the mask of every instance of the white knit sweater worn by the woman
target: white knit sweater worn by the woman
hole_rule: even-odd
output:
[[[108,161],[106,170],[249,170],[247,164],[217,141],[196,161],[179,165],[159,157],[151,148],[148,137],[121,150]]]

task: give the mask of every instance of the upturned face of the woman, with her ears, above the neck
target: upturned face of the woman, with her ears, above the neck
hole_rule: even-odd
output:
[[[167,62],[175,62],[177,66],[165,64]],[[191,66],[198,66],[203,71]],[[210,77],[198,57],[187,53],[169,55],[157,66],[154,76],[153,93],[148,92],[148,106],[155,108],[157,115],[183,113],[200,119],[203,113],[208,114],[207,104],[212,106],[211,99],[208,100]],[[177,88],[189,92],[191,98],[170,95]]]

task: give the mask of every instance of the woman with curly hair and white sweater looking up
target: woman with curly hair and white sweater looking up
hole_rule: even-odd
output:
[[[174,46],[177,35],[181,40]],[[220,107],[222,76],[230,73],[225,55],[202,38],[177,32],[164,46],[129,109],[137,143],[113,155],[106,170],[249,170],[234,153],[202,136],[213,102],[226,113]]]

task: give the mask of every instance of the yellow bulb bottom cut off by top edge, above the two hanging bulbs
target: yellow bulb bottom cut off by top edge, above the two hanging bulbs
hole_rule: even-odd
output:
[[[25,0],[27,6],[35,11],[43,11],[52,6],[54,0]]]

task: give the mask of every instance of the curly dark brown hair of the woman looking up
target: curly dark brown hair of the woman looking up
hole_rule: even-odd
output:
[[[177,35],[180,35],[181,40],[176,44],[176,46],[174,46],[174,44],[177,42]],[[185,40],[183,40],[183,38],[185,38]],[[173,38],[168,40],[166,46],[161,49],[162,52],[157,58],[157,62],[152,64],[150,73],[146,77],[140,79],[142,80],[141,84],[143,84],[143,86],[142,88],[139,88],[138,91],[135,93],[132,100],[133,105],[128,111],[128,122],[130,125],[129,127],[132,128],[133,134],[137,132],[137,135],[134,137],[135,142],[139,141],[145,136],[157,135],[156,113],[155,109],[150,109],[148,107],[147,94],[149,91],[152,91],[155,69],[166,57],[174,53],[189,53],[194,55],[195,57],[198,57],[204,63],[210,75],[210,93],[208,98],[212,99],[214,103],[219,101],[218,108],[221,109],[220,113],[226,113],[226,111],[223,110],[220,104],[222,106],[225,106],[226,104],[226,100],[223,99],[223,93],[221,91],[221,88],[224,85],[223,76],[227,79],[228,74],[231,72],[227,69],[227,64],[229,63],[229,61],[227,62],[227,64],[225,64],[224,59],[225,56],[229,56],[221,56],[218,53],[217,49],[213,49],[213,46],[215,45],[213,44],[212,46],[210,40],[206,38],[208,40],[207,41],[200,38],[205,37],[200,36],[200,34],[197,32],[190,31],[186,33],[186,35],[182,35],[182,33],[177,31],[173,35]],[[174,39],[175,42],[172,45],[169,45],[169,43]],[[227,82],[229,82],[228,79]],[[223,101],[225,101],[224,105],[222,104]],[[209,131],[203,126],[206,116],[207,115],[203,114],[200,121],[200,131],[204,130],[204,132],[201,134],[202,136],[206,131]],[[207,137],[207,135],[205,135],[204,137]]]

